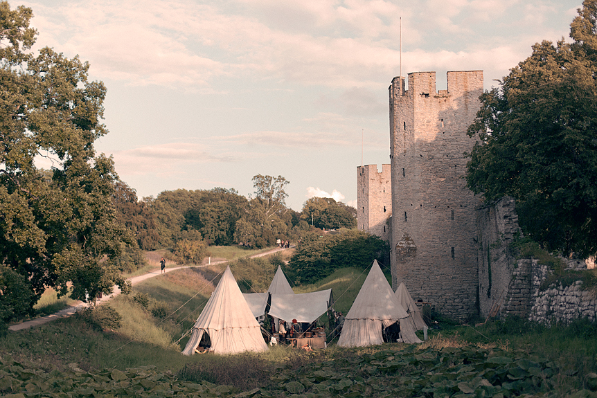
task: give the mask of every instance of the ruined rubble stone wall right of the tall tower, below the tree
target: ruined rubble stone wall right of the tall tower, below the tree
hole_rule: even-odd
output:
[[[597,298],[581,289],[577,281],[570,287],[540,291],[549,275],[547,266],[531,258],[516,259],[509,246],[519,230],[515,201],[503,198],[493,206],[479,209],[479,307],[486,317],[499,307],[499,316],[517,315],[540,323],[570,323],[577,318],[597,321]],[[568,269],[587,269],[578,259],[562,259]]]

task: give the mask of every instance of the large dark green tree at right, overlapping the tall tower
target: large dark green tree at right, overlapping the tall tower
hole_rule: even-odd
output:
[[[514,197],[524,233],[552,251],[597,251],[597,0],[571,38],[544,41],[483,93],[467,184],[491,202]]]

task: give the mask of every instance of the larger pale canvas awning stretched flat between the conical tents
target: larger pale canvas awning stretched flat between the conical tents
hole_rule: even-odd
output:
[[[313,323],[321,315],[326,314],[332,303],[332,289],[300,294],[271,294],[271,305],[268,314],[290,323]]]

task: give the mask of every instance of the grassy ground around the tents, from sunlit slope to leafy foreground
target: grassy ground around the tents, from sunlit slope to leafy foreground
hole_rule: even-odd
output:
[[[8,332],[0,338],[0,395],[597,396],[597,327],[582,321],[551,329],[516,319],[477,328],[440,324],[421,345],[332,345],[311,353],[274,347],[260,354],[183,356],[181,336],[222,268],[158,275],[136,285],[130,296],[109,302],[104,318],[81,314]],[[256,286],[271,270],[254,280],[253,272],[245,269],[243,278]],[[364,278],[362,269],[340,269],[294,290],[332,288],[336,308],[346,313]],[[118,317],[120,327],[112,327]]]

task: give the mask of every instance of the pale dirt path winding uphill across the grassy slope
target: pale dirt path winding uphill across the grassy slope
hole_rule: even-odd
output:
[[[294,248],[294,246],[290,246],[290,248]],[[265,255],[269,255],[269,254],[273,254],[276,253],[278,251],[283,251],[283,250],[287,250],[287,248],[274,248],[271,249],[270,251],[266,251],[264,253],[259,253],[256,255],[251,255],[251,258],[253,257],[263,257]],[[165,272],[171,272],[171,271],[175,271],[177,269],[181,269],[181,268],[202,268],[204,266],[209,266],[209,265],[214,265],[214,264],[223,264],[227,261],[215,261],[215,262],[211,262],[211,264],[204,264],[204,265],[197,265],[194,267],[189,267],[189,266],[176,266],[174,268],[166,268],[164,271]],[[145,273],[143,275],[139,275],[139,276],[134,276],[133,278],[130,278],[131,284],[134,286],[135,284],[138,284],[139,282],[143,282],[143,280],[149,279],[149,278],[153,278],[154,276],[160,275],[160,269],[154,269],[153,271],[150,271],[148,273]],[[112,298],[114,298],[115,296],[118,296],[118,294],[121,293],[121,289],[118,288],[117,286],[114,286],[114,291],[112,291],[112,294],[109,294],[107,296],[103,296],[103,298],[100,298],[97,300],[97,304],[100,305],[103,302],[107,302],[109,300],[111,300]],[[22,329],[28,329],[29,327],[34,327],[34,326],[38,326],[38,325],[43,325],[44,323],[48,323],[51,322],[52,320],[56,320],[58,318],[65,318],[66,316],[71,316],[73,314],[75,314],[77,311],[81,311],[84,308],[89,307],[89,303],[87,302],[80,302],[77,305],[72,305],[71,307],[62,309],[61,311],[56,312],[55,314],[51,314],[48,316],[42,316],[42,318],[35,318],[32,320],[27,320],[26,322],[22,322],[22,323],[17,323],[16,325],[10,325],[8,327],[9,330],[13,330],[13,331],[17,331],[17,330],[22,330]]]

